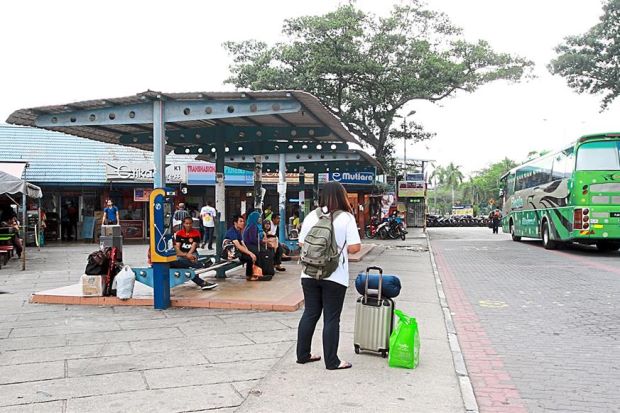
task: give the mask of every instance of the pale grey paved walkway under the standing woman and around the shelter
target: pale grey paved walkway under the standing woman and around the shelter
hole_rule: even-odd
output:
[[[463,411],[425,242],[376,248],[351,266],[402,275],[398,305],[421,321],[426,346],[420,367],[352,354],[350,288],[340,348],[354,368],[336,373],[294,363],[300,311],[30,304],[32,292],[79,279],[93,246],[32,251],[27,271],[0,270],[0,412]],[[126,263],[144,265],[144,250],[125,246]],[[308,380],[323,397],[307,397]]]

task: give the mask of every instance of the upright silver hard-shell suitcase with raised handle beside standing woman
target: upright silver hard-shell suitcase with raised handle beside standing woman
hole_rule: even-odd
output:
[[[370,270],[379,271],[379,288],[369,290],[368,277],[366,277],[364,295],[358,298],[355,304],[353,345],[356,354],[360,351],[373,351],[385,358],[389,351],[390,334],[394,327],[394,301],[381,295],[383,269],[368,267],[366,275]]]

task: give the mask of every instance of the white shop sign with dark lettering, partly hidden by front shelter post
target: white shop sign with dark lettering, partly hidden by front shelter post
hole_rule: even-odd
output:
[[[187,183],[186,166],[166,165],[166,182]],[[111,162],[105,166],[108,182],[153,182],[155,165],[152,162]]]

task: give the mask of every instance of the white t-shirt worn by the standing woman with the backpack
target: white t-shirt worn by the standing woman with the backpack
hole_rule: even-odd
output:
[[[299,242],[303,243],[306,235],[310,232],[310,228],[314,226],[319,221],[319,217],[316,214],[316,211],[312,211],[308,216],[304,219],[303,224],[301,225],[301,232],[299,233]],[[338,215],[334,220],[334,233],[336,236],[336,244],[338,244],[338,249],[343,249],[346,241],[346,246],[351,246],[355,244],[360,244],[360,235],[357,231],[357,223],[355,222],[355,217],[348,213],[344,212]],[[344,260],[342,259],[344,257]],[[344,261],[344,262],[343,262]],[[312,278],[304,274],[303,270],[301,272],[302,278]],[[347,249],[344,248],[342,250],[342,255],[340,256],[340,264],[336,271],[332,273],[325,280],[334,281],[338,284],[344,285],[345,287],[349,286],[349,255],[347,253]]]

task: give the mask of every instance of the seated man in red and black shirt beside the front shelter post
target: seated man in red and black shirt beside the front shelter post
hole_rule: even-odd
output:
[[[170,268],[207,268],[212,262],[201,262],[198,260],[198,242],[200,241],[200,232],[192,228],[192,217],[183,218],[183,228],[174,234],[174,249],[177,251],[177,260],[170,264]],[[198,275],[192,278],[201,289],[210,290],[217,287],[217,284],[205,281]]]

